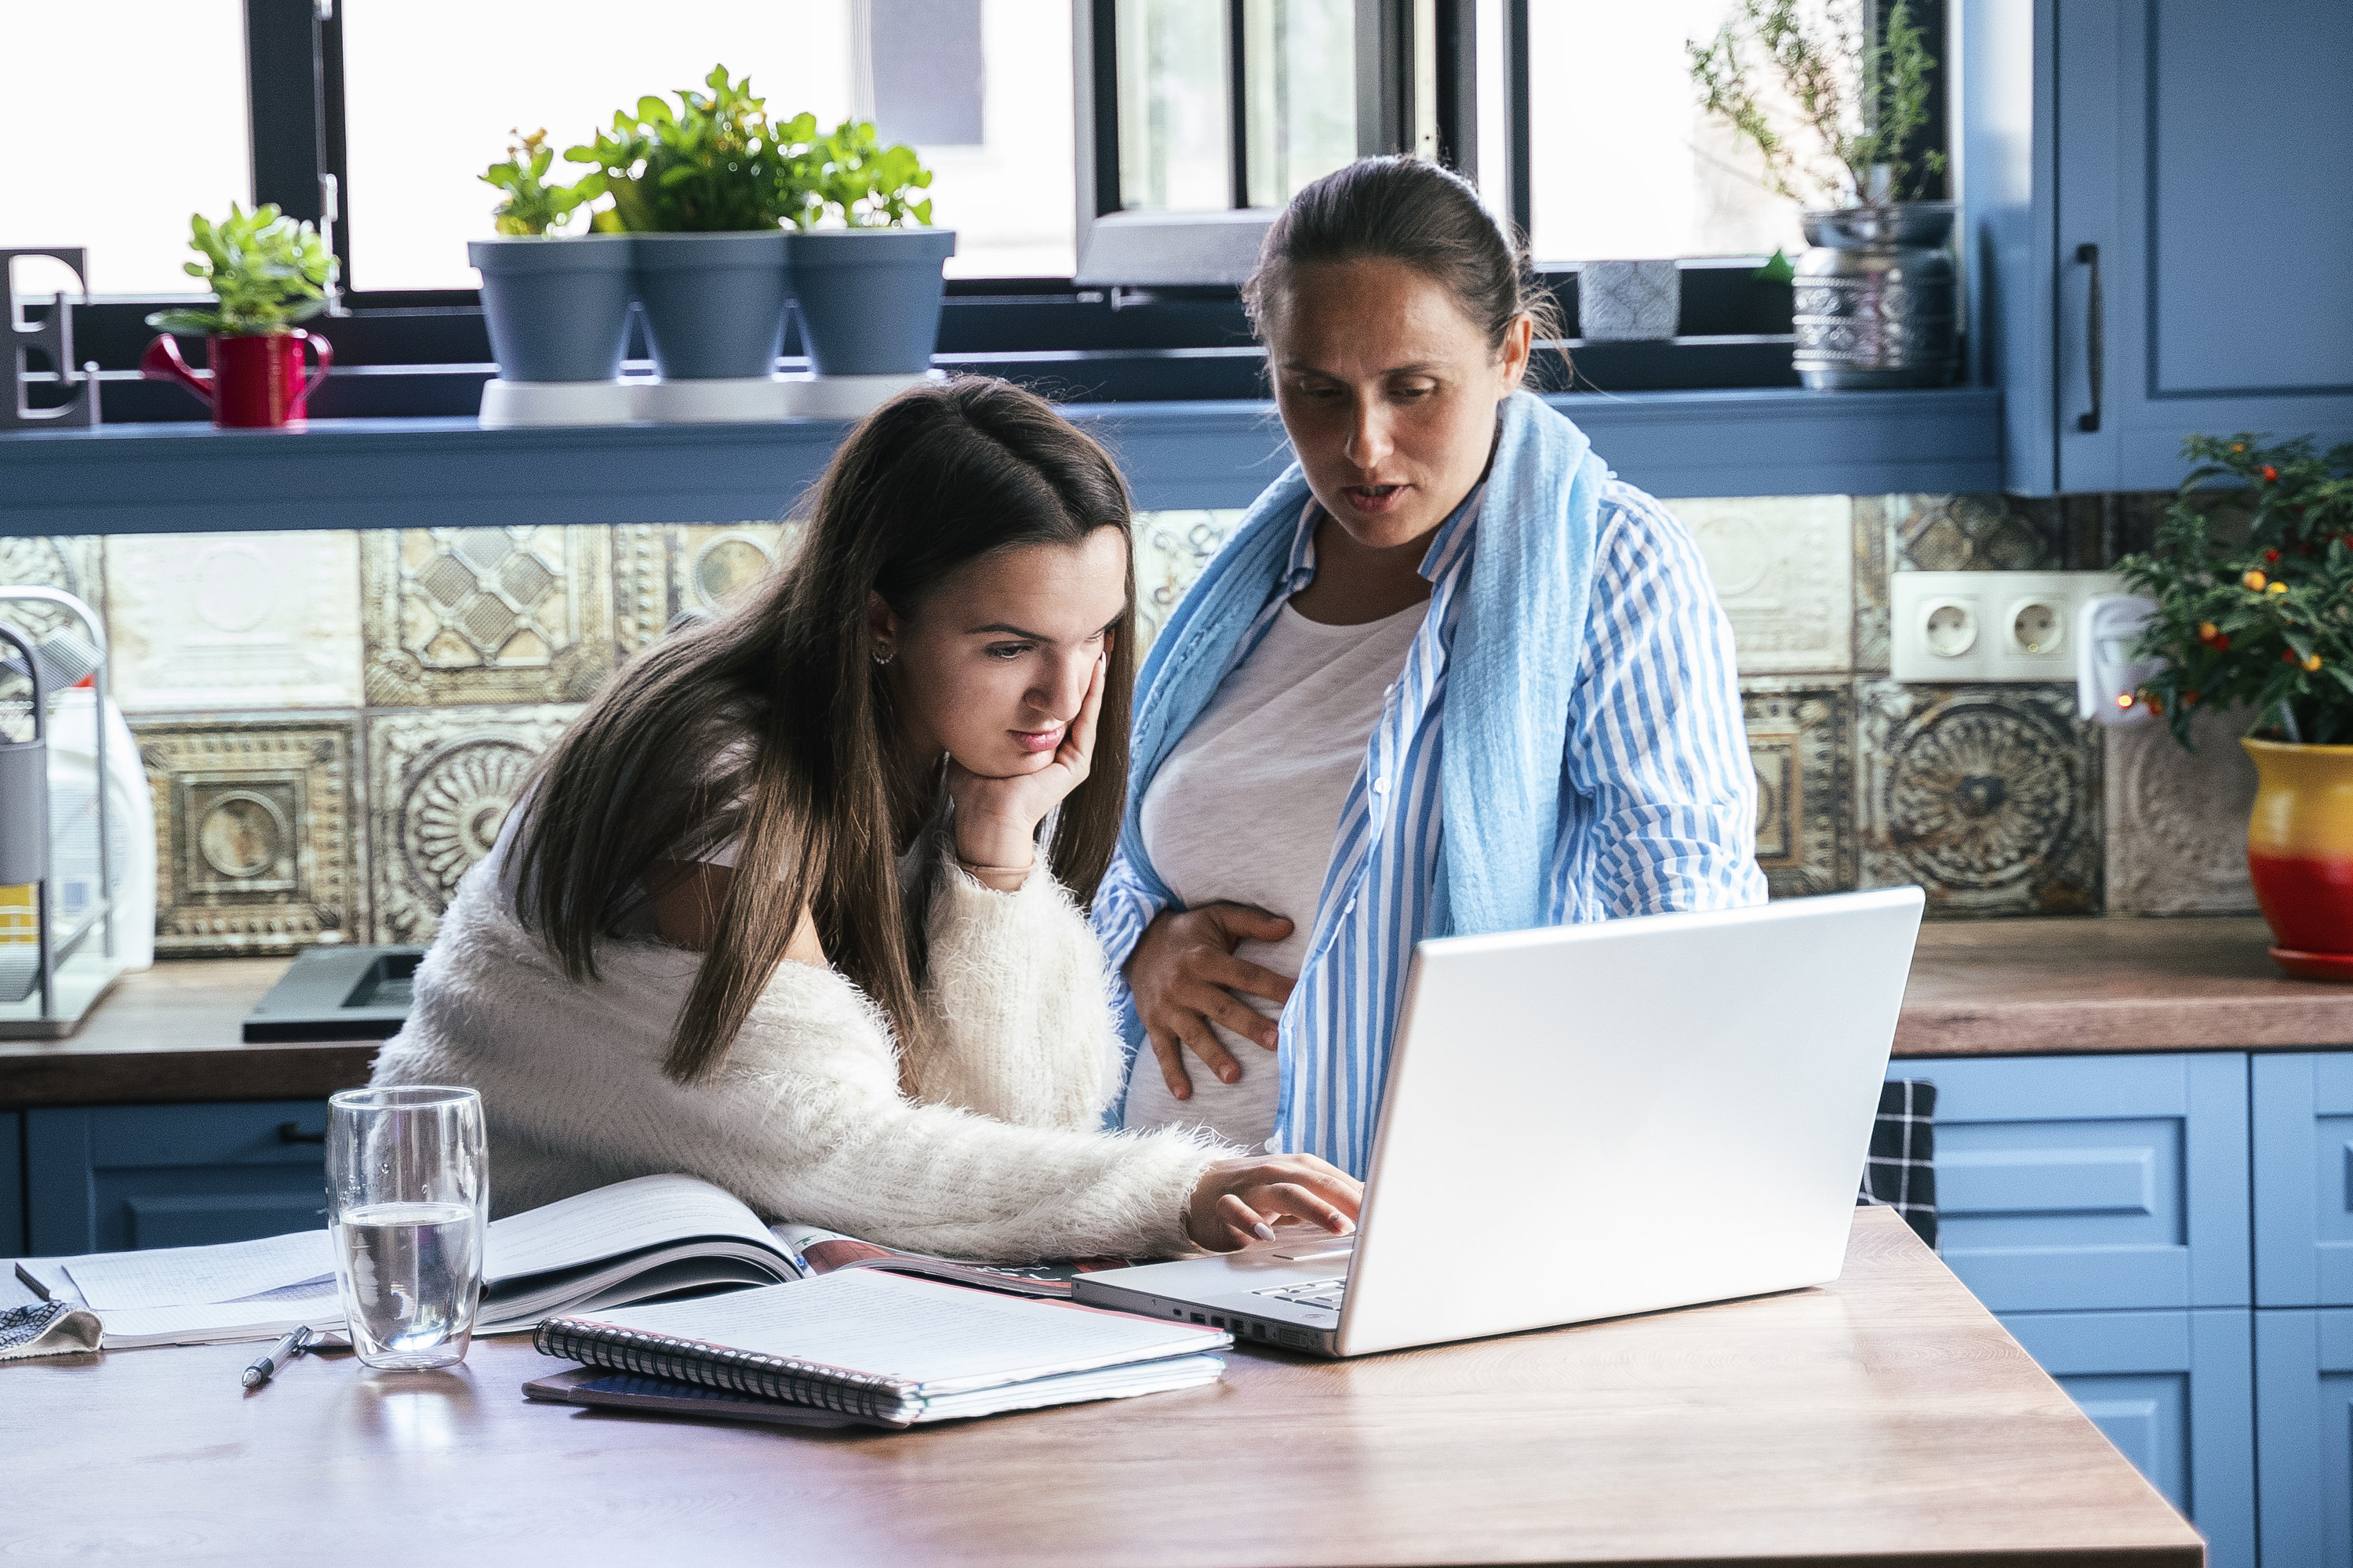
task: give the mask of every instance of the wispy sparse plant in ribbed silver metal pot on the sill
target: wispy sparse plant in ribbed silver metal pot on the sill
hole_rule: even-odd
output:
[[[1906,153],[1937,56],[1904,0],[1878,31],[1873,12],[1739,0],[1715,38],[1687,45],[1701,108],[1755,146],[1774,193],[1807,205],[1793,303],[1812,388],[1944,386],[1960,367],[1953,205],[1918,200],[1946,160]]]

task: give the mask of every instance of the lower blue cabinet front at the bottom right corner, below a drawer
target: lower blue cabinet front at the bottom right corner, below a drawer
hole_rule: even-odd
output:
[[[2254,1314],[2264,1568],[2353,1561],[2353,1309]]]

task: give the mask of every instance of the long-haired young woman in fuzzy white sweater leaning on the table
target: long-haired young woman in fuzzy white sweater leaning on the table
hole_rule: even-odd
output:
[[[1118,1039],[1073,898],[1118,832],[1129,630],[1104,451],[998,381],[899,397],[793,562],[546,755],[374,1081],[482,1091],[501,1211],[687,1171],[967,1258],[1346,1229],[1320,1161],[1096,1131]]]

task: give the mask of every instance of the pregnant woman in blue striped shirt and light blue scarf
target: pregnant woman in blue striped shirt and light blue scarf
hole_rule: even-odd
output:
[[[1315,181],[1245,303],[1299,461],[1153,646],[1094,922],[1129,1128],[1362,1175],[1414,940],[1760,903],[1755,776],[1706,567],[1520,390],[1548,303],[1466,181]]]

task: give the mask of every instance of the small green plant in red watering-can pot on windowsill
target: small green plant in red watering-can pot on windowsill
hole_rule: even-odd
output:
[[[308,223],[278,207],[242,212],[235,202],[219,223],[193,214],[186,273],[212,289],[209,310],[158,310],[148,327],[162,336],[139,355],[148,381],[179,381],[212,404],[212,423],[240,430],[301,428],[311,393],[327,378],[334,350],[311,336],[306,322],[327,308],[334,254]],[[174,331],[205,334],[200,376],[188,369]],[[318,353],[318,371],[304,376],[304,346]]]

